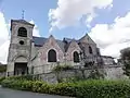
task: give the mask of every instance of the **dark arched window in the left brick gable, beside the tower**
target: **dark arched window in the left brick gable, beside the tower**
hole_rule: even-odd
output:
[[[51,49],[48,52],[48,62],[56,62],[56,52],[55,50]]]

